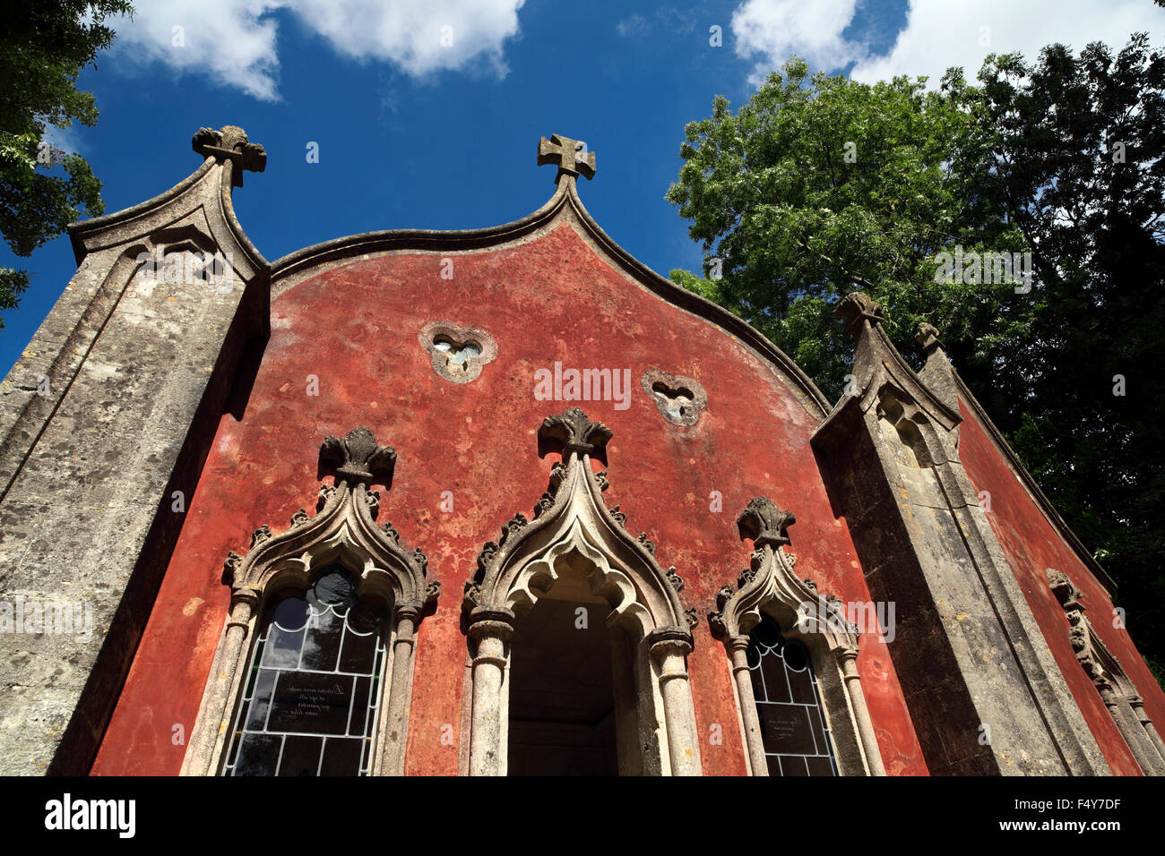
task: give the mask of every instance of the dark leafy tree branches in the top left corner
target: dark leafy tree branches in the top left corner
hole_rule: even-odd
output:
[[[128,0],[37,0],[5,14],[0,34],[0,234],[19,256],[80,215],[104,210],[101,183],[79,155],[44,140],[48,126],[92,126],[97,106],[76,87],[80,70],[113,42],[111,16],[133,14]],[[59,167],[59,169],[54,169]],[[57,175],[52,175],[57,172]],[[0,268],[0,311],[14,309],[28,273]],[[0,328],[3,320],[0,319]]]

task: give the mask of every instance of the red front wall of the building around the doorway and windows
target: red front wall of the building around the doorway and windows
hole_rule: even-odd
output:
[[[202,481],[149,618],[94,774],[177,773],[198,712],[228,592],[227,551],[242,553],[262,523],[287,528],[313,512],[319,444],[367,425],[400,455],[379,521],[421,546],[442,581],[437,613],[419,628],[407,772],[453,774],[460,731],[466,641],[461,588],[482,544],[516,511],[531,515],[558,454],[537,455],[543,417],[578,404],[614,430],[607,447],[608,505],[647,532],[664,567],[675,565],[683,599],[701,616],[715,592],[748,564],[735,517],[756,495],[793,510],[798,572],[822,592],[868,601],[845,522],[835,519],[810,450],[816,419],[774,369],[730,335],[629,282],[569,225],[527,243],[440,255],[353,261],[309,278],[271,304],[271,338],[246,411],[219,425]],[[436,375],[418,331],[449,320],[488,331],[499,356],[469,384]],[[564,367],[629,368],[631,403],[545,402],[534,373]],[[708,405],[692,427],[666,423],[640,387],[658,367],[698,380]],[[305,394],[319,379],[319,396]],[[451,490],[454,511],[439,510]],[[709,493],[723,511],[709,511]],[[700,733],[722,727],[723,744],[701,747],[708,774],[744,772],[728,659],[706,621],[689,658]],[[887,770],[925,774],[902,689],[881,637],[863,637],[857,660]],[[460,741],[461,735],[457,735]]]

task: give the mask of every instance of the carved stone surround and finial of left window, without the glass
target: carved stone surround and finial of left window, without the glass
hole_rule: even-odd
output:
[[[377,445],[368,429],[359,427],[345,438],[325,439],[320,458],[336,465],[337,481],[334,486],[322,484],[318,514],[310,517],[299,509],[291,525],[278,535],[260,526],[246,556],[232,552],[224,563],[223,581],[231,587],[231,606],[183,759],[183,776],[213,776],[223,767],[267,599],[282,588],[306,588],[315,571],[332,564],[344,566],[353,576],[358,596],[379,597],[390,609],[389,656],[372,774],[400,776],[404,771],[415,634],[436,603],[440,583],[428,579],[428,560],[419,549],[410,554],[391,524],[377,526],[374,522],[380,494],[369,491],[368,484],[382,477],[395,460],[391,447]]]

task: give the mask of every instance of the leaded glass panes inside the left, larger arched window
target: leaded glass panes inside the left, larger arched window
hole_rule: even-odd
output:
[[[325,568],[263,611],[226,776],[367,776],[382,694],[388,609]]]

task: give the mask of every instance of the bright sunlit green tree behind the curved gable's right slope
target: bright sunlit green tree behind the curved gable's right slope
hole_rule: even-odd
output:
[[[809,78],[791,59],[736,114],[718,97],[686,127],[668,191],[711,275],[673,280],[747,319],[832,397],[852,359],[832,311],[856,289],[887,307],[896,341],[930,320],[965,372],[1019,383],[1031,302],[1010,283],[935,281],[935,255],[955,245],[1025,249],[998,201],[967,193],[991,143],[973,94],[956,73],[927,92],[925,78]]]

